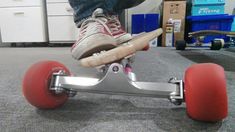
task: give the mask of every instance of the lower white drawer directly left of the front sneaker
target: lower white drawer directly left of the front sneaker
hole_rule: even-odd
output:
[[[48,17],[50,42],[74,42],[77,31],[73,16]]]

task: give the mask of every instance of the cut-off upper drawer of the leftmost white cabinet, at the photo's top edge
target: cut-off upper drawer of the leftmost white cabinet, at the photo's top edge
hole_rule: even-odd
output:
[[[0,0],[0,7],[41,6],[42,0]]]

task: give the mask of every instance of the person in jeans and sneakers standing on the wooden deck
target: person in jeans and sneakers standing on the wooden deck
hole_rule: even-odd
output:
[[[73,58],[80,60],[94,53],[113,49],[130,40],[131,34],[121,26],[118,15],[144,0],[69,0],[74,22],[80,29],[72,46]]]

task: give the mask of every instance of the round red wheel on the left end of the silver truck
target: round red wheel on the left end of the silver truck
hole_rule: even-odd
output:
[[[23,94],[27,101],[38,108],[52,109],[63,105],[68,96],[63,93],[56,95],[49,90],[49,84],[54,72],[69,70],[55,61],[42,61],[31,66],[23,79]]]

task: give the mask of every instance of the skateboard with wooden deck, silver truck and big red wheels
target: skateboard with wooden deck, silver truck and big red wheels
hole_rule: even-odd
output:
[[[144,48],[151,38],[158,36],[159,31],[161,29],[143,34],[123,46],[128,46],[127,49],[132,51],[129,53],[135,53]],[[112,53],[105,52],[98,59]],[[38,62],[24,75],[23,95],[39,109],[58,108],[77,92],[165,98],[174,105],[185,103],[187,115],[194,120],[216,122],[227,117],[226,79],[221,66],[194,64],[186,70],[184,79],[172,77],[167,82],[142,82],[132,72],[132,57],[119,55],[105,62],[94,63],[96,56],[83,60],[83,66],[96,67],[97,74],[102,73],[97,78],[74,76],[66,66],[56,61]]]

